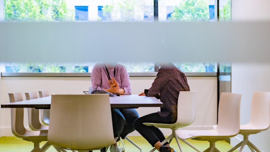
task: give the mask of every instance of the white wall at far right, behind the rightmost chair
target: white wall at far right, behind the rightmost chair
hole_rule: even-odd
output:
[[[253,22],[270,20],[270,2],[268,0],[237,0],[232,1],[231,6],[232,21]],[[253,50],[253,52],[260,51],[263,48],[257,46],[256,49],[257,50]],[[241,124],[246,124],[250,119],[251,99],[253,92],[270,92],[270,64],[268,62],[233,62],[231,67],[231,92],[242,93]],[[237,135],[236,138],[231,139],[231,145],[236,145],[242,139],[243,137],[241,135]],[[268,129],[262,133],[250,135],[249,140],[260,150],[267,152],[270,149],[268,142],[270,140],[270,130]],[[249,152],[250,149],[245,146],[243,152],[245,151]]]

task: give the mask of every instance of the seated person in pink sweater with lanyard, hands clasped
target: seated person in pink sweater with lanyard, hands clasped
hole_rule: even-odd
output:
[[[92,90],[105,90],[113,94],[130,95],[131,86],[129,75],[125,66],[115,63],[97,63],[91,73]],[[124,139],[127,134],[135,130],[133,122],[139,118],[138,112],[133,108],[112,108],[112,126],[114,137]],[[105,151],[108,147],[105,148]],[[111,152],[123,152],[117,142],[110,146]]]

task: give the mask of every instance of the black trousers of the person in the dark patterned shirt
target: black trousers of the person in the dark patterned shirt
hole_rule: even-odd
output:
[[[162,142],[165,140],[164,134],[160,131],[159,128],[154,126],[146,126],[143,123],[175,123],[176,118],[171,112],[169,116],[162,118],[158,113],[151,113],[140,117],[134,121],[135,129],[154,147],[158,141]],[[166,142],[164,145],[169,144]]]

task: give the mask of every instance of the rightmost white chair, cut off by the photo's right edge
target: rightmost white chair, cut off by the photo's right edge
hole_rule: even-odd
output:
[[[251,119],[249,123],[240,125],[239,134],[244,136],[243,140],[230,149],[228,152],[232,152],[241,146],[239,152],[242,151],[245,145],[247,145],[251,151],[256,150],[261,152],[254,144],[248,140],[250,134],[258,134],[264,130],[267,130],[270,126],[270,92],[253,92],[251,103]]]

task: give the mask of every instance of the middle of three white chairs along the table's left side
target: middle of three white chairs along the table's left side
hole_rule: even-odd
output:
[[[26,100],[38,98],[37,92],[25,92]],[[28,108],[28,122],[31,130],[48,130],[48,125],[43,125],[39,121],[39,109]]]

